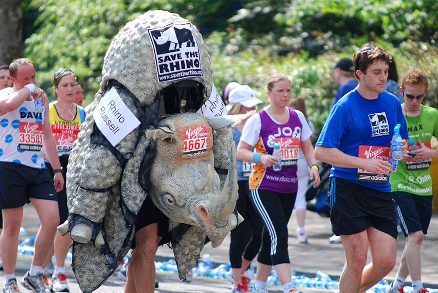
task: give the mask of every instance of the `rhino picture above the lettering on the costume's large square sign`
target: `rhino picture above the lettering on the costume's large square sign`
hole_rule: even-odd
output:
[[[183,45],[185,47],[196,46],[193,33],[188,28],[179,29],[172,25],[151,31],[151,35],[155,42],[157,55],[178,51]]]

